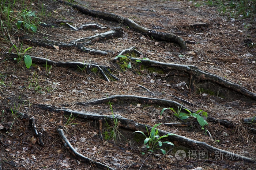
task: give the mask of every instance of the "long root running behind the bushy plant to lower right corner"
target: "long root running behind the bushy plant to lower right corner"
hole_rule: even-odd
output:
[[[56,111],[56,112],[64,111],[64,113],[67,115],[73,114],[74,116],[78,116],[79,118],[83,118],[83,119],[91,119],[91,120],[117,119],[117,121],[119,122],[118,126],[120,128],[128,129],[131,131],[140,130],[140,131],[143,131],[144,133],[147,133],[146,128],[145,128],[145,126],[147,126],[147,125],[135,122],[134,120],[131,120],[131,119],[124,118],[123,116],[118,115],[118,114],[114,114],[114,116],[113,115],[101,115],[101,114],[97,114],[97,113],[93,113],[93,112],[81,112],[81,111],[76,111],[76,110],[60,109],[60,108],[57,109],[57,108],[54,108],[53,106],[43,105],[43,104],[36,105],[35,107],[38,107],[41,109],[47,109],[50,111]],[[151,128],[152,128],[151,126],[147,126],[148,131],[151,131]],[[158,130],[158,131],[159,131],[159,135],[165,135],[165,134],[169,133],[169,132],[166,132],[163,130]],[[185,146],[185,147],[195,149],[195,150],[207,151],[208,157],[212,158],[212,159],[214,159],[216,156],[216,153],[218,153],[220,155],[223,155],[224,157],[226,157],[229,160],[235,159],[236,161],[240,160],[240,161],[247,161],[247,162],[256,162],[254,159],[244,157],[242,155],[238,155],[235,153],[231,153],[229,151],[225,151],[222,149],[218,149],[216,147],[208,145],[205,142],[196,141],[196,140],[186,138],[181,135],[177,135],[177,134],[173,134],[173,133],[169,133],[169,134],[170,135],[168,137],[166,137],[165,139],[168,139],[168,141],[173,142],[174,146]]]

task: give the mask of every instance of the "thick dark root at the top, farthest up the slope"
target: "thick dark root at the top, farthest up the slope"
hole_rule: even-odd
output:
[[[173,35],[170,33],[165,33],[165,32],[153,31],[151,29],[140,26],[139,24],[135,23],[133,20],[131,20],[129,18],[119,16],[114,13],[90,10],[90,9],[86,9],[82,6],[74,5],[72,3],[68,3],[68,2],[65,2],[62,0],[58,0],[58,1],[60,3],[71,5],[73,8],[78,9],[83,14],[95,16],[95,17],[102,18],[102,19],[109,20],[109,21],[116,21],[118,23],[127,24],[131,29],[133,29],[137,32],[140,32],[143,35],[148,35],[149,37],[153,37],[154,39],[159,40],[159,41],[167,41],[167,42],[177,43],[183,50],[187,50],[186,43],[179,36],[176,36],[176,35]]]

